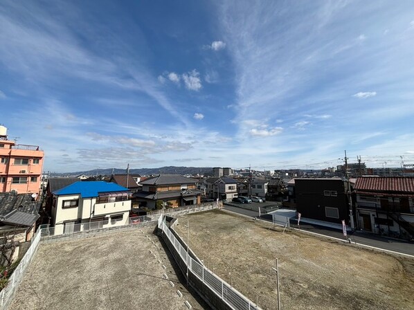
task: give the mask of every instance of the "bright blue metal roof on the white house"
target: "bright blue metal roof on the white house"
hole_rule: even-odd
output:
[[[108,183],[105,181],[87,181],[75,182],[60,190],[53,192],[55,195],[71,195],[80,194],[82,198],[98,197],[100,193],[104,192],[128,192],[127,188],[116,183]]]

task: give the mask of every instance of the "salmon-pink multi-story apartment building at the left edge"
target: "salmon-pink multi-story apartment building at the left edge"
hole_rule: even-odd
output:
[[[0,192],[39,193],[44,153],[35,145],[19,145],[0,125]]]

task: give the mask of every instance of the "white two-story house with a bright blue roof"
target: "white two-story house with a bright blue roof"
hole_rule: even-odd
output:
[[[53,192],[55,235],[128,224],[130,191],[105,181],[75,182]]]

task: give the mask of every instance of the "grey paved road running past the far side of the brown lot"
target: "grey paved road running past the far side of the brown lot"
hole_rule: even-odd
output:
[[[237,208],[234,206],[224,205],[225,210],[236,212],[240,215],[247,215],[249,217],[258,217],[259,213],[252,210],[245,210],[242,208]],[[271,221],[270,215],[262,215],[261,219],[265,221]],[[297,221],[291,220],[291,227],[296,228]],[[336,230],[334,228],[326,228],[323,226],[318,226],[314,224],[307,224],[300,222],[300,230],[307,230],[312,233],[318,233],[321,235],[336,237],[343,239],[342,230]],[[348,232],[348,238],[355,241],[357,244],[364,244],[366,246],[375,246],[376,248],[382,248],[384,250],[392,250],[398,253],[404,253],[408,255],[414,255],[414,244],[408,243],[407,241],[401,241],[397,239],[391,239],[387,237],[381,237],[377,235],[371,235],[368,233],[363,233],[355,231],[353,233]]]

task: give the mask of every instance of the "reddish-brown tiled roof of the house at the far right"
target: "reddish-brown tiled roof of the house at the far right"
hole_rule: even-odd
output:
[[[361,176],[354,189],[357,192],[411,192],[414,193],[414,177]]]

